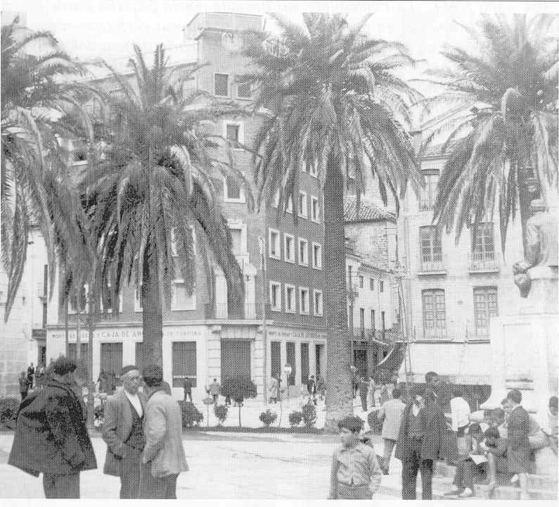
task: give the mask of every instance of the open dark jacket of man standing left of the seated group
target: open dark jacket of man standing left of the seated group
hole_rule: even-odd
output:
[[[411,461],[412,442],[408,437],[409,411],[413,403],[408,403],[401,416],[401,425],[394,456],[401,461]],[[435,402],[423,408],[425,418],[425,437],[421,442],[421,459],[437,460],[441,457],[442,435],[446,429],[446,421],[442,408]]]

